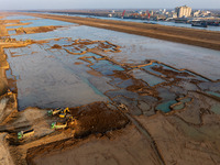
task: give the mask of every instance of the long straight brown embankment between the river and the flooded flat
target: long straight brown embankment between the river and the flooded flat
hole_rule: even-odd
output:
[[[100,20],[94,18],[78,18],[78,16],[51,15],[51,14],[23,13],[23,12],[22,14],[78,23],[81,25],[96,26],[107,30],[124,32],[129,34],[136,34],[142,36],[148,36],[148,37],[220,51],[220,32],[191,30],[185,28],[158,25],[158,24],[144,24],[144,23],[122,22],[112,20]]]

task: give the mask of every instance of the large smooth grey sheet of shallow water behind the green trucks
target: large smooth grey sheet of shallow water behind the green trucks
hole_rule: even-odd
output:
[[[6,50],[16,80],[19,109],[26,107],[76,107],[94,101],[107,101],[96,87],[85,65],[74,65],[75,56],[65,51],[45,50],[50,45]],[[28,55],[26,55],[28,54]]]

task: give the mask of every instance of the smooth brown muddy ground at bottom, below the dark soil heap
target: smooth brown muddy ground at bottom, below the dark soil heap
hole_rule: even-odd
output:
[[[99,139],[90,136],[85,141],[76,142],[73,150],[57,151],[50,156],[36,157],[30,164],[132,165],[144,162],[160,165],[156,155],[151,150],[150,142],[133,125],[130,125],[123,131],[113,132],[110,139],[108,136]]]

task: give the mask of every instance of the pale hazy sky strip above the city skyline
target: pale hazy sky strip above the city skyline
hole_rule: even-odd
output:
[[[220,0],[0,0],[0,10],[25,9],[128,9],[175,8],[220,9]]]

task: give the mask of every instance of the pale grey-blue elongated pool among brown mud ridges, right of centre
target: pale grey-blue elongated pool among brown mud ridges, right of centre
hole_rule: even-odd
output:
[[[164,82],[165,80],[153,76],[151,74],[147,74],[146,72],[134,69],[130,73],[134,78],[142,79],[143,81],[147,82],[151,87],[156,86],[158,84]]]

